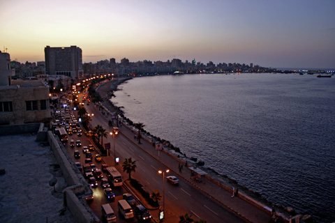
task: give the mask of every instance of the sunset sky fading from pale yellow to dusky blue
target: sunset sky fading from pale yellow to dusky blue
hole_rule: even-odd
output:
[[[44,61],[77,45],[83,62],[126,57],[335,68],[334,0],[0,0],[0,50]]]

